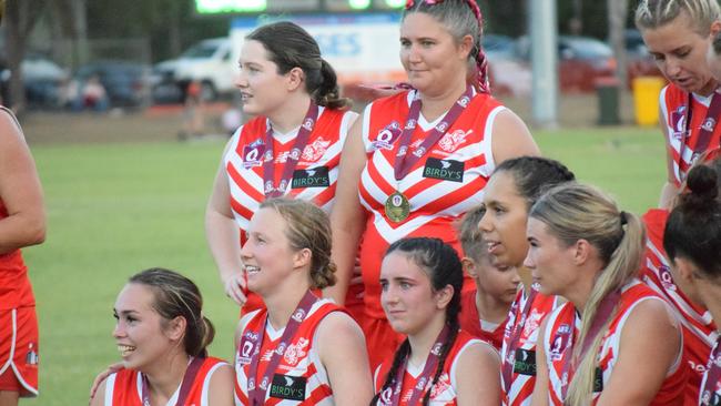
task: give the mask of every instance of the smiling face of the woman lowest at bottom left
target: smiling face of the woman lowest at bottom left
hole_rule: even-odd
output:
[[[150,287],[129,283],[115,301],[118,323],[113,337],[128,369],[151,369],[154,363],[182,347],[179,337],[165,328],[170,322],[152,307],[154,300]]]

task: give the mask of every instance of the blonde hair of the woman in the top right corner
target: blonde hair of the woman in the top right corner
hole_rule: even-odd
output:
[[[636,27],[639,30],[656,29],[668,24],[686,12],[693,30],[708,35],[711,24],[721,20],[717,0],[642,0],[636,9]]]

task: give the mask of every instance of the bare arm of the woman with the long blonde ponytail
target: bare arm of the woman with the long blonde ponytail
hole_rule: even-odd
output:
[[[618,362],[598,406],[651,403],[681,346],[678,323],[663,302],[646,300],[638,304],[621,332]]]

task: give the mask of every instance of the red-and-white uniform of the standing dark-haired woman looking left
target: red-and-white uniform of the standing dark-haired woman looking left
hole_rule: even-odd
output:
[[[326,213],[331,212],[335,201],[336,182],[341,151],[356,113],[318,106],[318,119],[313,128],[306,146],[293,173],[285,196],[313,202]],[[267,150],[265,134],[268,120],[255,118],[241,126],[230,142],[230,149],[224,156],[231,191],[231,209],[235,222],[241,230],[241,244],[245,243],[245,231],[251,217],[265,200],[263,180],[263,163]],[[297,130],[287,134],[273,133],[274,184],[282,177],[283,166],[288,160]],[[362,301],[357,298],[362,286],[351,286],[346,297],[346,306],[359,308]],[[248,301],[243,306],[243,313],[260,308],[263,301],[250,293]],[[359,313],[358,312],[354,312]]]

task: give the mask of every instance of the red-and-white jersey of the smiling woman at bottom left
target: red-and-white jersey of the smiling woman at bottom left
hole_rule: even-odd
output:
[[[207,395],[211,388],[211,377],[219,367],[227,365],[220,358],[207,357],[201,365],[195,382],[187,394],[185,405],[209,406]],[[138,371],[121,369],[108,377],[105,382],[105,406],[143,406],[143,378]],[[180,386],[167,403],[175,405]]]

